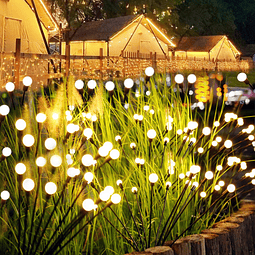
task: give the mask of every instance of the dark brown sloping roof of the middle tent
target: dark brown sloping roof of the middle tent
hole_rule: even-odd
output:
[[[111,36],[127,26],[136,17],[136,15],[129,15],[100,21],[86,22],[78,29],[72,38],[72,41],[107,41]]]

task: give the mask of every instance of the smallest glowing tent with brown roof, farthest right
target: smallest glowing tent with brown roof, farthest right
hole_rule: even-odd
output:
[[[175,49],[177,59],[235,61],[240,55],[225,35],[183,37]]]

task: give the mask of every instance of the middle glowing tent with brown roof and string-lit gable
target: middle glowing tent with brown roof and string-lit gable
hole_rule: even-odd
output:
[[[175,47],[161,29],[144,14],[84,23],[70,42],[71,55],[120,56],[124,52],[156,52],[169,56]],[[62,44],[65,54],[65,43]]]

